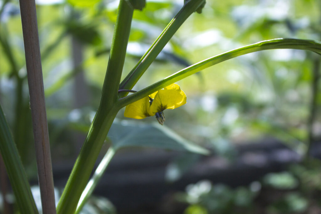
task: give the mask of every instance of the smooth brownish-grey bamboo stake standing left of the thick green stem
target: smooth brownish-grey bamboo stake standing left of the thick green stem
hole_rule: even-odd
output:
[[[56,206],[42,79],[36,4],[34,0],[20,0],[19,4],[42,211],[44,214],[52,214],[56,213]]]

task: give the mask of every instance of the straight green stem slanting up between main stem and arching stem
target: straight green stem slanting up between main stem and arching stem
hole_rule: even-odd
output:
[[[132,71],[125,77],[120,83],[119,89],[132,89],[136,82],[140,79],[143,73],[155,60],[156,56],[168,43],[178,28],[187,20],[187,18],[195,12],[195,10],[204,2],[204,0],[190,0],[177,15],[169,22],[167,27],[163,30],[160,36],[155,40],[148,51],[142,56],[138,63],[134,66]],[[128,93],[124,92],[120,94],[121,97],[126,96]]]

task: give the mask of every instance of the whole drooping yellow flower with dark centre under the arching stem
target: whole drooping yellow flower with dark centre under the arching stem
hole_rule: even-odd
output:
[[[148,116],[156,115],[157,121],[162,125],[165,122],[163,111],[174,109],[186,103],[186,94],[177,84],[171,84],[156,91],[143,99],[126,106],[124,116],[143,119]]]

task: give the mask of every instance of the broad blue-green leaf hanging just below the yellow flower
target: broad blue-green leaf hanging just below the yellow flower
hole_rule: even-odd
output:
[[[115,120],[110,127],[108,137],[116,150],[138,146],[209,154],[208,150],[187,141],[171,129],[158,123],[144,124],[129,120]]]

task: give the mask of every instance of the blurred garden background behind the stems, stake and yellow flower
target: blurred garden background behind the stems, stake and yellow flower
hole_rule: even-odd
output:
[[[100,102],[119,2],[36,2],[59,194]],[[143,11],[135,10],[123,77],[182,5],[183,0],[147,0]],[[320,40],[320,23],[316,0],[207,0],[203,13],[187,19],[134,90],[261,40]],[[317,54],[280,49],[240,56],[179,81],[187,104],[166,110],[165,126],[211,155],[122,149],[82,213],[321,213],[319,70]],[[16,0],[0,0],[0,100],[30,182],[37,185]],[[155,122],[125,118],[123,112],[117,115],[119,129]],[[2,191],[10,193],[1,170]],[[16,210],[12,195],[6,198],[9,208],[2,202],[0,211]]]

